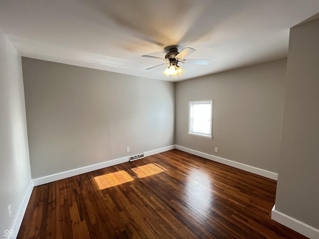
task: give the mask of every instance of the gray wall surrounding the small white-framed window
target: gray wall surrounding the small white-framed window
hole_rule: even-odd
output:
[[[176,144],[278,172],[287,59],[176,84]],[[188,102],[213,100],[213,139],[187,134]],[[218,147],[219,152],[214,152]]]

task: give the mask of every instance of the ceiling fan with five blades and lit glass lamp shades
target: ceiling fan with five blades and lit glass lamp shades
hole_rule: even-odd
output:
[[[190,53],[193,53],[194,51],[196,51],[196,50],[193,48],[190,48],[190,47],[186,47],[181,52],[178,52],[177,47],[170,47],[169,52],[164,56],[164,58],[157,57],[157,56],[143,55],[143,57],[155,58],[155,59],[160,59],[160,60],[166,61],[165,63],[162,63],[162,64],[157,65],[157,66],[152,66],[152,67],[145,69],[145,70],[150,70],[150,69],[153,69],[153,68],[161,66],[161,65],[169,64],[169,66],[163,71],[163,74],[167,77],[169,75],[171,75],[172,77],[177,77],[177,76],[179,77],[185,73],[185,70],[178,65],[179,62],[189,63],[189,64],[199,64],[199,65],[207,65],[209,63],[209,60],[183,59],[185,56],[188,56]]]

